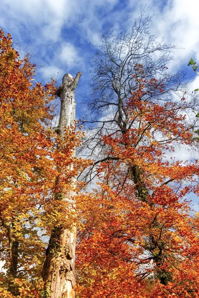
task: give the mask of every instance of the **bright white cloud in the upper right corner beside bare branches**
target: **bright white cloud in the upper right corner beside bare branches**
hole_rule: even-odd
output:
[[[153,34],[160,39],[164,37],[167,43],[184,48],[175,51],[175,60],[170,63],[170,69],[176,70],[182,68],[182,64],[188,64],[191,56],[199,60],[199,1],[167,0],[163,5],[164,2],[148,0],[150,7],[147,14],[155,14],[151,23]],[[146,1],[141,0],[141,3],[144,6]]]

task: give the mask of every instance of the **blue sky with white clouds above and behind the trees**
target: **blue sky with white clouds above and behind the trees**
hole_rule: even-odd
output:
[[[199,88],[199,75],[187,66],[191,57],[199,61],[199,0],[1,0],[0,27],[22,56],[31,54],[37,81],[54,77],[60,85],[65,73],[82,72],[76,89],[79,119],[89,96],[95,45],[110,25],[118,33],[130,31],[145,5],[145,16],[154,15],[151,33],[178,47],[170,71],[188,71],[190,89]],[[191,159],[186,149],[179,156]]]

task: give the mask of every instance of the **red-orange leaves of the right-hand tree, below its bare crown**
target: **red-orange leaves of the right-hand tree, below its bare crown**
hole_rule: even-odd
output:
[[[199,297],[198,218],[186,199],[198,193],[199,167],[166,157],[178,145],[193,146],[186,99],[155,101],[148,95],[164,86],[135,81],[124,132],[101,135],[109,151],[98,164],[103,182],[82,214],[78,297]]]

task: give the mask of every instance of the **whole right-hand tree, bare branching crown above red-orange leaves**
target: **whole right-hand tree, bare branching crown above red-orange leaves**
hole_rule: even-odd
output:
[[[183,91],[183,72],[168,72],[172,48],[149,22],[141,15],[129,34],[104,35],[94,59],[81,151],[94,164],[80,178],[99,185],[82,214],[80,297],[198,297],[198,224],[186,202],[198,163],[165,155],[193,145],[186,114],[197,97]]]

